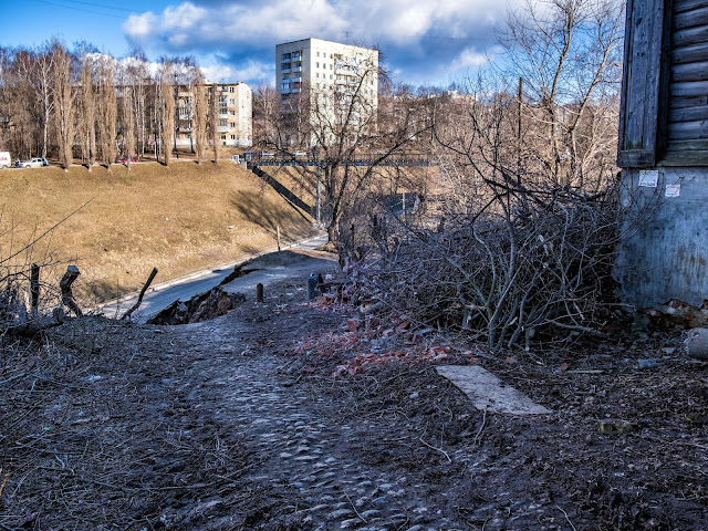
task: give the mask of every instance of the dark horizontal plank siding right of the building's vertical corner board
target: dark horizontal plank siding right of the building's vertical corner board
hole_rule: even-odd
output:
[[[667,155],[708,156],[708,2],[673,4]]]

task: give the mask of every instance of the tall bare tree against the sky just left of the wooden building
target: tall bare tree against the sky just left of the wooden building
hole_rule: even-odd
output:
[[[624,2],[527,0],[500,35],[503,74],[522,79],[524,128],[539,160],[562,186],[602,186],[614,175]]]

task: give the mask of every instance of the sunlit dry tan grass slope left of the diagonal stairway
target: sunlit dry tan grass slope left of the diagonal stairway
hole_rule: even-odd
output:
[[[228,160],[12,169],[0,179],[0,259],[87,202],[13,261],[53,253],[76,263],[76,290],[97,300],[139,289],[153,267],[159,282],[271,249],[279,226],[283,241],[312,232],[306,215]]]

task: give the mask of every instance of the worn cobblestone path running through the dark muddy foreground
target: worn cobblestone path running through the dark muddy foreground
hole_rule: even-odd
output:
[[[295,327],[305,326],[302,313],[293,319],[300,320]],[[385,460],[357,459],[352,442],[361,423],[333,418],[332,395],[308,392],[282,371],[287,360],[260,352],[254,345],[268,341],[267,335],[254,336],[236,315],[176,327],[174,334],[183,347],[199,345],[209,352],[189,372],[200,383],[186,400],[204,404],[204,389],[210,389],[207,395],[221,389],[218,403],[201,407],[211,408],[215,421],[232,426],[254,445],[260,464],[243,480],[289,493],[282,513],[290,529],[467,529],[417,496],[426,489],[405,471]]]

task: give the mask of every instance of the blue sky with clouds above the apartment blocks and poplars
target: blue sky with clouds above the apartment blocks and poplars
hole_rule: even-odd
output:
[[[520,0],[15,0],[0,44],[86,41],[119,59],[194,55],[212,82],[274,83],[275,44],[309,37],[377,45],[395,81],[448,86],[499,52]]]

